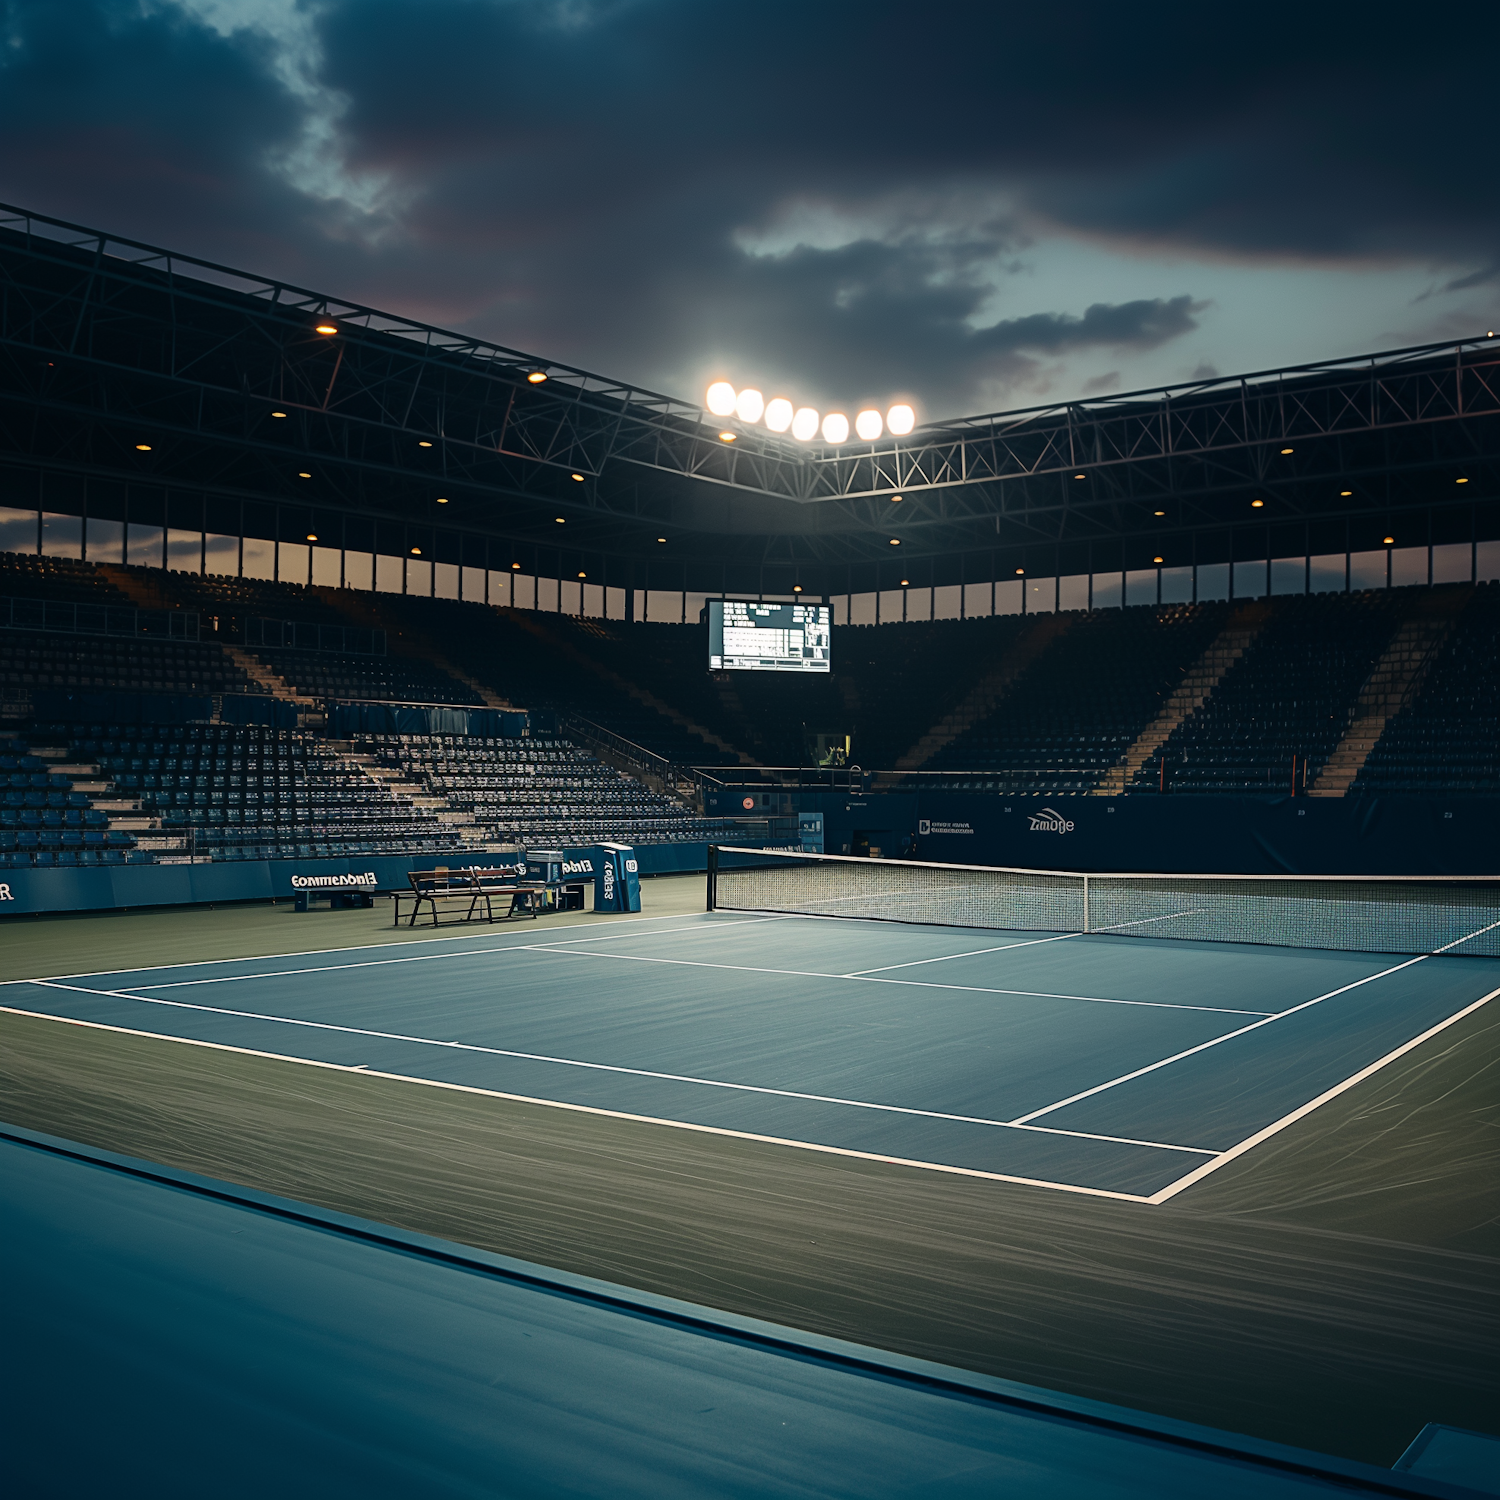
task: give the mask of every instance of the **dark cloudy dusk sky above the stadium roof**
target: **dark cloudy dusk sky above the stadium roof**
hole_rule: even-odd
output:
[[[1500,321],[1500,6],[0,0],[0,198],[924,420]]]

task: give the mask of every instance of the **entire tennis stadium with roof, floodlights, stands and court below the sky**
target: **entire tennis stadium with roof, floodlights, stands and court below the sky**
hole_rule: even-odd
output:
[[[1492,332],[796,428],[16,207],[0,320],[26,1492],[1500,1492]]]

